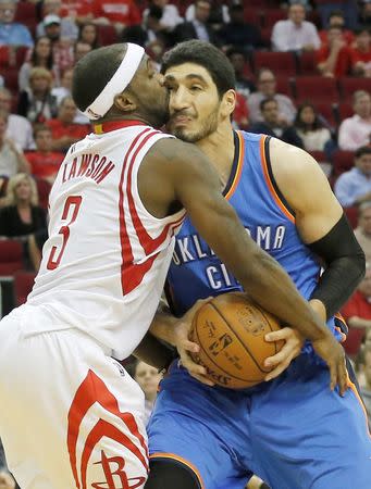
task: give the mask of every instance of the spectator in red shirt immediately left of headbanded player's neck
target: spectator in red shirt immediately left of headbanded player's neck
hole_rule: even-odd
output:
[[[83,139],[89,126],[74,123],[76,105],[72,97],[65,97],[59,105],[58,117],[47,121],[52,134],[52,149],[67,151],[71,145]]]

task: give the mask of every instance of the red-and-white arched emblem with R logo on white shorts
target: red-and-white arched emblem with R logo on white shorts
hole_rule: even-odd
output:
[[[116,398],[92,371],[76,391],[67,422],[67,449],[77,489],[135,489],[144,484],[148,473],[146,440],[133,414],[120,411]],[[98,451],[102,438],[109,439],[107,446],[113,450],[119,446],[113,454],[106,449]],[[119,450],[124,456],[116,455]],[[132,462],[129,474],[125,457]],[[98,466],[99,479],[88,484],[88,473],[96,475]],[[133,474],[133,466],[138,467],[138,474]]]

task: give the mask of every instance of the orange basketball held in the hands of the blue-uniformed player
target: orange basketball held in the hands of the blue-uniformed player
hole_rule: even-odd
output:
[[[208,377],[231,389],[252,387],[271,368],[264,360],[277,353],[284,341],[268,342],[267,333],[280,329],[279,321],[240,292],[223,293],[206,302],[195,314],[189,339],[200,346],[193,360]]]

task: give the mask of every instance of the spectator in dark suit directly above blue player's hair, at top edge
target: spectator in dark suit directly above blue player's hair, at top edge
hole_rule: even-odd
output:
[[[213,45],[219,45],[219,38],[213,28],[208,24],[210,17],[211,3],[209,0],[196,0],[195,18],[178,24],[173,30],[175,42],[183,42],[190,39],[200,39]]]

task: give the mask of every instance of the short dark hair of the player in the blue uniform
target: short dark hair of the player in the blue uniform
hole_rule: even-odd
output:
[[[215,84],[220,98],[227,90],[235,88],[236,79],[230,60],[210,42],[193,39],[176,45],[164,54],[161,73],[183,63],[195,63],[205,67]]]

